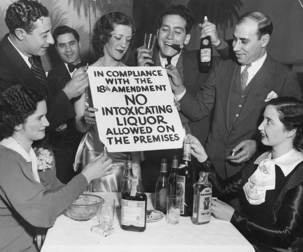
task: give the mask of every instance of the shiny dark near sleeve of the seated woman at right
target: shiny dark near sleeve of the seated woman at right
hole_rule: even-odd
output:
[[[289,190],[276,212],[276,220],[253,219],[234,212],[231,223],[246,237],[268,245],[288,248],[303,225],[303,183]]]

